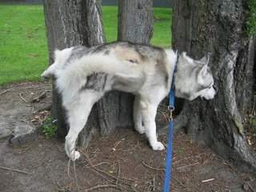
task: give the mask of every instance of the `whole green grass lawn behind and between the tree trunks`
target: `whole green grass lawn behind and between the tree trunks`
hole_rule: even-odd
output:
[[[103,6],[107,42],[115,41],[118,8]],[[151,44],[170,45],[170,9],[154,8]],[[42,6],[0,5],[0,85],[40,79],[48,65]]]

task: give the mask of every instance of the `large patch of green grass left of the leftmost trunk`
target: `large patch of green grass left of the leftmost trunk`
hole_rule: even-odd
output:
[[[42,6],[0,6],[0,85],[39,79],[48,62]]]

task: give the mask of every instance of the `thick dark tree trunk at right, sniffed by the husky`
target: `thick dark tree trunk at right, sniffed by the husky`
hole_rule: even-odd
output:
[[[246,0],[174,0],[173,45],[193,58],[210,52],[218,95],[212,101],[186,102],[176,128],[186,126],[218,154],[256,170],[256,155],[243,134],[243,119],[253,106],[254,39],[246,37]],[[241,163],[242,164],[239,164]]]

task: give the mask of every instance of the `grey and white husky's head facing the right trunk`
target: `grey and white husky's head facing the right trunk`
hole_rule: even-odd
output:
[[[178,98],[212,99],[216,94],[214,78],[208,66],[209,55],[201,60],[194,60],[182,53],[178,58],[175,74],[175,95]]]

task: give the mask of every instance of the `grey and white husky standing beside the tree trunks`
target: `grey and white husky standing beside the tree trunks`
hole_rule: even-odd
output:
[[[176,96],[193,100],[214,98],[214,78],[208,57],[196,61],[174,50],[130,42],[112,42],[55,50],[54,63],[42,77],[54,76],[70,130],[65,150],[71,160],[80,157],[75,150],[78,134],[85,126],[91,108],[110,90],[135,95],[134,128],[146,134],[153,150],[164,150],[158,142],[155,115],[159,102],[167,96],[174,75]],[[174,74],[174,67],[177,71]]]

